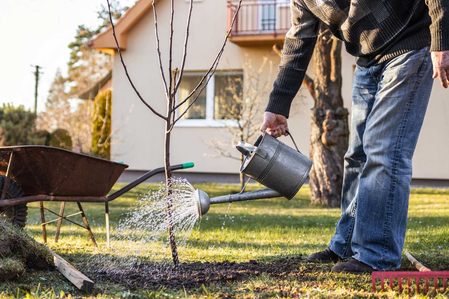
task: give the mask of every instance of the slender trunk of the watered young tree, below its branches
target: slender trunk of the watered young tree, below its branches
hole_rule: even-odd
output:
[[[172,258],[175,268],[179,266],[178,250],[176,248],[175,231],[173,228],[173,206],[172,206],[172,170],[170,169],[170,102],[168,104],[168,117],[165,121],[165,147],[164,147],[164,161],[165,161],[165,178],[167,184],[167,218],[168,218],[168,233],[170,238],[170,247],[172,249]]]

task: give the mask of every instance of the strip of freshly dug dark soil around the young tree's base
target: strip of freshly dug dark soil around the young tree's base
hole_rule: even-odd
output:
[[[132,272],[110,271],[109,269],[87,275],[97,282],[108,280],[125,282],[131,289],[144,286],[154,289],[161,286],[182,289],[183,287],[200,287],[202,284],[207,285],[212,282],[242,281],[262,273],[273,277],[286,277],[299,272],[298,264],[303,262],[301,256],[282,258],[269,263],[259,263],[256,260],[236,263],[225,260],[217,263],[183,263],[180,269],[166,269],[165,271],[155,271],[151,264],[140,264]]]

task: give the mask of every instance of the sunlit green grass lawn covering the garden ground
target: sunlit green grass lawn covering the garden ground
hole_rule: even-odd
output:
[[[113,190],[123,184],[116,184]],[[154,185],[142,184],[110,204],[111,225],[127,208]],[[237,185],[195,185],[212,196],[237,192]],[[251,185],[247,190],[257,189]],[[189,237],[188,247],[180,247],[181,262],[223,261],[246,262],[251,259],[260,263],[282,257],[309,254],[324,250],[339,220],[338,208],[310,206],[310,190],[304,186],[290,201],[264,199],[233,203],[229,209],[226,225],[221,226],[228,204],[212,205],[202,218],[200,230]],[[46,203],[46,207],[58,211],[58,203]],[[92,247],[87,231],[63,222],[59,242],[54,243],[56,224],[47,225],[48,246],[71,264],[80,267],[95,252],[107,252],[103,204],[83,204],[92,226],[99,249]],[[66,204],[65,214],[78,212],[75,203]],[[50,218],[49,213],[47,217]],[[53,217],[51,217],[53,218]],[[82,221],[79,221],[82,222]],[[43,242],[40,213],[37,203],[29,204],[28,232]],[[449,190],[418,188],[410,195],[409,218],[404,251],[409,251],[432,270],[449,270]],[[207,284],[195,289],[131,289],[114,281],[96,281],[92,296],[151,297],[151,298],[408,298],[406,292],[386,291],[371,293],[370,275],[330,273],[330,264],[310,264],[305,260],[297,263],[297,271],[284,277],[260,274],[244,281]],[[405,257],[401,270],[414,270]],[[63,291],[66,296],[88,296],[76,289],[57,271],[29,272],[29,276],[0,282],[0,298],[51,298]],[[38,289],[39,286],[39,289]],[[441,284],[440,284],[441,286]],[[447,298],[449,292],[438,295]],[[413,296],[413,294],[410,294]],[[429,293],[430,297],[434,295]],[[422,295],[416,298],[427,298]]]

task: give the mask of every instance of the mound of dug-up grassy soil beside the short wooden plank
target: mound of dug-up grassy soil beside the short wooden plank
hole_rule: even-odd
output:
[[[0,217],[0,281],[13,279],[26,269],[52,270],[53,255],[25,231]]]

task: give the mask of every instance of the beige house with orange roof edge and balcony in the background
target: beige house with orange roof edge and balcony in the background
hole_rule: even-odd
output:
[[[140,0],[116,23],[115,30],[127,66],[137,90],[156,110],[166,110],[163,83],[156,55],[154,36],[154,14],[152,1]],[[158,30],[164,69],[168,68],[168,36],[170,2],[157,0]],[[194,0],[190,25],[189,45],[185,74],[180,94],[183,95],[210,67],[223,43],[230,19],[237,1]],[[209,158],[213,151],[207,146],[211,139],[229,140],[229,134],[217,121],[214,110],[214,93],[220,86],[220,76],[242,74],[244,62],[250,58],[253,65],[260,65],[264,56],[273,61],[275,71],[279,57],[273,53],[275,43],[283,42],[290,27],[290,1],[246,0],[242,3],[240,15],[234,26],[220,65],[206,91],[198,100],[197,109],[180,120],[172,131],[172,164],[194,162],[190,173],[183,174],[191,181],[236,182],[239,162],[225,157]],[[175,0],[173,68],[180,67],[188,0]],[[111,157],[122,160],[129,169],[122,181],[129,181],[143,171],[163,166],[164,122],[147,109],[134,93],[120,62],[111,28],[99,34],[90,42],[97,48],[113,56],[112,87],[112,151]],[[343,99],[344,106],[351,110],[351,84],[355,59],[343,50]],[[312,64],[311,64],[312,65]],[[236,73],[237,72],[237,73]],[[268,70],[266,71],[268,76]],[[308,73],[313,74],[312,67]],[[276,75],[276,74],[274,74]],[[266,77],[267,77],[266,76]],[[266,78],[265,77],[265,78]],[[245,78],[243,78],[245,80]],[[218,82],[218,84],[214,84]],[[271,85],[273,79],[267,82]],[[268,100],[268,95],[267,95]],[[310,108],[313,101],[303,88],[296,99],[289,127],[299,149],[308,155],[310,133]],[[449,183],[449,93],[435,81],[428,113],[413,161],[413,177]],[[290,140],[285,138],[287,144]],[[229,144],[229,151],[235,151]],[[206,156],[205,156],[206,154]],[[162,178],[158,178],[161,179]]]

